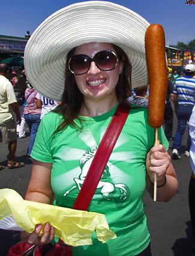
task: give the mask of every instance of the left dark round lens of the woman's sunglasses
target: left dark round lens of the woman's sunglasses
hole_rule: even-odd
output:
[[[91,60],[86,55],[75,55],[70,59],[69,69],[75,75],[82,75],[88,72]]]

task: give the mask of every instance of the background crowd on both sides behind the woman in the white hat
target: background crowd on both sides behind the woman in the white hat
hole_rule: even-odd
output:
[[[8,111],[4,116],[0,114],[1,118],[1,137],[2,142],[8,142],[8,150],[9,150],[9,159],[8,159],[8,168],[18,168],[23,167],[25,164],[22,162],[14,161],[14,154],[16,152],[17,146],[17,137],[20,139],[26,137],[25,131],[25,123],[28,125],[29,132],[30,132],[30,139],[29,139],[29,146],[26,152],[26,156],[30,157],[35,137],[38,131],[38,126],[40,125],[40,121],[43,118],[44,114],[48,113],[51,110],[54,110],[56,107],[61,104],[61,102],[53,101],[52,99],[46,98],[32,87],[29,84],[29,81],[26,78],[25,70],[22,70],[19,75],[16,75],[14,72],[14,76],[10,79],[10,81],[6,80],[6,77],[9,77],[8,73],[8,65],[7,64],[0,64],[0,78],[1,83],[7,87],[7,105]],[[181,145],[182,134],[184,134],[185,126],[190,119],[193,107],[194,107],[194,84],[195,79],[193,78],[195,72],[194,64],[188,64],[185,66],[184,75],[179,76],[174,80],[175,72],[173,76],[170,76],[170,72],[168,70],[168,87],[167,87],[167,97],[166,97],[166,104],[165,104],[165,111],[164,111],[164,133],[167,137],[167,140],[173,140],[173,152],[172,158],[179,159],[179,146]],[[3,77],[2,77],[3,76]],[[14,81],[13,81],[14,78]],[[189,83],[190,81],[190,83]],[[182,84],[181,84],[182,83]],[[191,87],[190,87],[191,86]],[[182,88],[179,91],[179,88]],[[190,90],[190,92],[189,92]],[[191,93],[191,94],[190,94]],[[130,104],[136,104],[139,107],[148,107],[148,98],[149,98],[149,87],[137,87],[131,90],[132,96],[127,98],[127,101]],[[178,96],[179,95],[179,99]],[[176,130],[176,136],[179,134],[179,143],[177,143],[178,139],[174,139],[173,135],[173,109],[172,105],[175,108],[175,114],[178,118],[178,128]],[[2,105],[1,105],[2,107]],[[187,108],[187,110],[186,110]],[[179,111],[178,111],[179,109]],[[12,111],[10,111],[12,110]],[[195,110],[193,111],[193,113]],[[14,113],[14,115],[13,115]],[[16,117],[17,123],[14,121]],[[183,120],[184,119],[184,120]],[[8,120],[8,122],[7,122]],[[2,125],[5,123],[5,125]],[[184,125],[182,126],[181,130],[181,123]],[[194,118],[191,117],[191,137],[194,137]],[[7,130],[6,130],[7,126]],[[14,131],[13,131],[14,130]],[[11,133],[11,131],[13,131]],[[17,135],[16,135],[17,131]],[[177,137],[176,137],[177,138]],[[175,143],[174,143],[175,142]],[[176,146],[178,148],[176,148]],[[190,157],[190,146],[191,146],[191,139],[190,133],[188,136],[187,148],[185,150],[185,155]],[[193,149],[191,149],[192,158],[194,157],[194,142],[193,142]],[[175,154],[176,153],[176,154]],[[190,205],[190,213],[192,223],[194,223],[194,177],[195,177],[195,169],[194,169],[194,159],[191,160],[193,174],[190,180],[189,186],[189,205]],[[1,169],[4,166],[0,166]]]

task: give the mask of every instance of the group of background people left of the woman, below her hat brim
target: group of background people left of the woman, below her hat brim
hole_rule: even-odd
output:
[[[8,143],[8,168],[13,169],[25,166],[14,160],[17,138],[26,137],[27,125],[30,138],[26,157],[30,157],[41,118],[58,106],[58,102],[37,93],[27,80],[25,70],[11,73],[9,70],[7,64],[0,64],[0,135],[1,142]],[[0,169],[4,166],[1,165]]]

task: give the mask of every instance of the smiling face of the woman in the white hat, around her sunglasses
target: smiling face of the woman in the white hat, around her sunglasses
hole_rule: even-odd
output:
[[[86,43],[85,45],[78,46],[74,55],[85,54],[93,58],[97,52],[103,50],[111,50],[116,54],[115,49],[110,43]],[[115,69],[103,71],[98,69],[94,61],[92,61],[88,72],[83,75],[74,75],[77,86],[84,98],[92,101],[107,99],[108,97],[116,99],[115,87],[119,74],[122,72],[122,66],[123,63],[118,61]]]

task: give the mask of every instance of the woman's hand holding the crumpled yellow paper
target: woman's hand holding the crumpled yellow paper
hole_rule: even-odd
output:
[[[40,236],[41,229],[43,229],[43,234]],[[29,245],[46,245],[47,243],[52,242],[54,237],[54,228],[47,222],[44,225],[38,224],[35,226],[35,229],[32,233],[22,231],[20,237]]]

